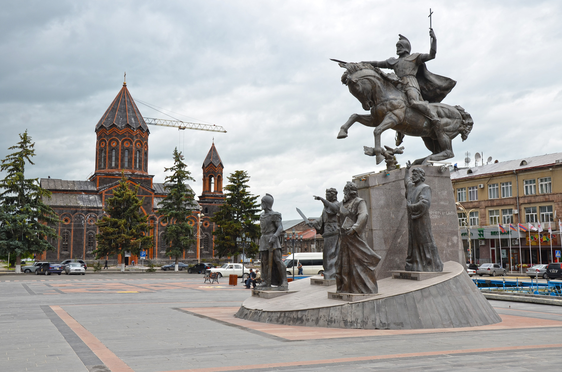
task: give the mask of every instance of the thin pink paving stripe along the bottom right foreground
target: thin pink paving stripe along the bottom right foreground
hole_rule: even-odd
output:
[[[529,350],[529,349],[538,349],[538,348],[560,348],[560,347],[562,347],[562,343],[543,344],[543,345],[527,345],[527,346],[487,347],[487,348],[464,349],[464,350],[444,350],[444,351],[427,351],[427,352],[419,352],[419,353],[370,355],[370,356],[360,356],[360,357],[353,357],[353,358],[304,360],[304,361],[297,361],[297,362],[281,362],[281,363],[267,363],[267,364],[249,364],[249,365],[226,366],[226,367],[215,367],[215,368],[210,367],[210,368],[196,368],[196,369],[178,369],[178,370],[164,371],[164,372],[237,371],[237,370],[248,370],[248,369],[279,368],[279,367],[319,365],[319,364],[330,364],[330,363],[345,363],[345,362],[356,362],[356,361],[364,361],[364,360],[408,358],[408,357],[414,357],[414,356],[451,355],[451,354],[479,353],[479,352],[490,352],[490,351],[518,351],[518,350]]]

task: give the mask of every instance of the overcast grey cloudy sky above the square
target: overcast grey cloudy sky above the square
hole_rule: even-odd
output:
[[[361,105],[329,58],[384,60],[398,33],[429,52],[434,11],[436,74],[457,81],[443,103],[474,119],[455,158],[505,161],[562,151],[562,3],[559,1],[18,1],[0,8],[0,156],[25,129],[36,143],[28,176],[85,180],[94,170],[95,125],[123,83],[134,98],[222,125],[228,133],[149,126],[150,174],[164,181],[175,146],[201,193],[212,137],[225,176],[246,170],[274,210],[318,216],[323,195],[352,175],[381,170],[373,130],[339,127]],[[169,119],[137,102],[145,117]],[[383,134],[392,146],[395,132]],[[400,164],[429,154],[407,137]]]

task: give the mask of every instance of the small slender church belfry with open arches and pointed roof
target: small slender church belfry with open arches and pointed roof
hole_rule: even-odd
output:
[[[199,197],[200,204],[205,203],[224,203],[223,194],[223,161],[220,160],[219,153],[216,151],[215,142],[205,161],[203,161],[203,192]]]

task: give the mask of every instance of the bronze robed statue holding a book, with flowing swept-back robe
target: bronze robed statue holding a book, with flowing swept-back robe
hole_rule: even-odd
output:
[[[357,185],[348,182],[339,205],[339,251],[336,261],[336,287],[339,293],[378,293],[375,266],[380,256],[365,243],[369,214]]]

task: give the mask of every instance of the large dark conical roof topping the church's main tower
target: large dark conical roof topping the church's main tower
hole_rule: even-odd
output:
[[[129,125],[133,129],[148,131],[148,126],[144,122],[142,115],[140,115],[139,109],[127,89],[127,83],[123,83],[123,88],[121,88],[117,97],[111,102],[102,118],[99,119],[96,130],[102,126],[109,128],[114,124],[120,129]]]

